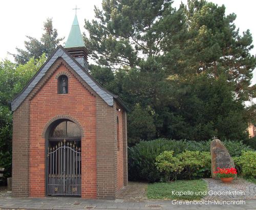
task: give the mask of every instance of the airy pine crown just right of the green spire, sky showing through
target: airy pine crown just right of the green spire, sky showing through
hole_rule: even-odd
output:
[[[112,69],[135,67],[145,57],[161,52],[163,34],[157,33],[161,15],[169,11],[170,0],[103,0],[100,11],[95,7],[92,23],[85,28],[90,37],[84,37],[95,61]]]

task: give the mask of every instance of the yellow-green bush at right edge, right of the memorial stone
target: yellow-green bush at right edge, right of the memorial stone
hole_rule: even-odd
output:
[[[256,152],[243,151],[242,155],[235,158],[237,167],[241,170],[241,175],[246,178],[256,177]]]

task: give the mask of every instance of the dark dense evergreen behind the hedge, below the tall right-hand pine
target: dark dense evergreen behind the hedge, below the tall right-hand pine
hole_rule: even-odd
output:
[[[201,141],[217,135],[221,139],[246,139],[246,109],[225,75],[218,79],[206,73],[188,80],[175,79],[173,98],[159,110],[160,133],[174,139]]]

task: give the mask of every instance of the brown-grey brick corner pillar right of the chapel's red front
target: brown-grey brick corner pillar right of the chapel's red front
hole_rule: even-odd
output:
[[[114,108],[96,97],[97,199],[114,199],[117,188]]]

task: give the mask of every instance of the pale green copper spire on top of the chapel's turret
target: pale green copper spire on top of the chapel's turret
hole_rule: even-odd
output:
[[[79,28],[77,16],[75,15],[68,40],[65,43],[65,48],[76,48],[77,46],[85,46],[82,34]]]

